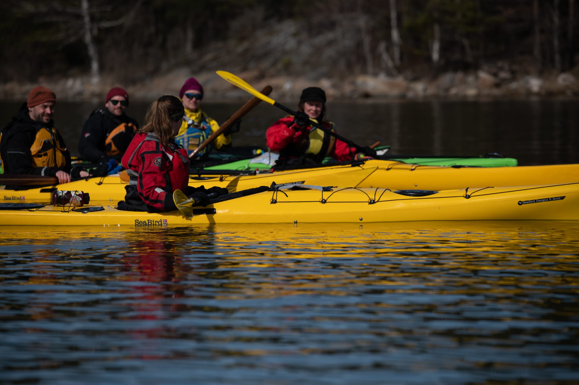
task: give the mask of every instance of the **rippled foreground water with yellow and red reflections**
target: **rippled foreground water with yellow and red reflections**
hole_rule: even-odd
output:
[[[574,222],[0,230],[0,383],[579,382]]]

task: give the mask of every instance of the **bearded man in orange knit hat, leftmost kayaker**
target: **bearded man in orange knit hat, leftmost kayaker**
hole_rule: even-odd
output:
[[[57,177],[60,183],[71,181],[71,171],[75,179],[89,176],[81,167],[71,170],[70,153],[52,120],[55,104],[53,91],[34,87],[12,122],[2,129],[0,158],[5,174],[46,175]]]

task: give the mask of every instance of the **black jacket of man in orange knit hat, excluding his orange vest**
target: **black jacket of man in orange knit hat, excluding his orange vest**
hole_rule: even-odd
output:
[[[60,133],[56,130],[54,130],[56,132],[56,137],[53,138],[52,141],[44,142],[42,149],[39,151],[37,156],[41,157],[40,155],[42,153],[54,155],[58,152],[58,156],[64,157],[64,167],[56,167],[56,163],[53,165],[47,164],[43,167],[35,166],[36,163],[33,159],[31,146],[36,140],[36,135],[39,134],[39,131],[45,130],[45,128],[52,131],[53,127],[53,120],[50,120],[47,124],[32,120],[28,115],[26,103],[24,103],[20,107],[17,115],[12,118],[12,122],[8,123],[8,125],[2,129],[0,156],[2,157],[4,173],[47,175],[49,177],[56,176],[57,171],[60,170],[65,171],[65,173],[70,173],[71,156],[64,144],[63,137],[61,137]],[[44,132],[46,134],[46,131]],[[54,141],[57,141],[60,144],[61,149],[58,149],[58,146],[56,146]]]

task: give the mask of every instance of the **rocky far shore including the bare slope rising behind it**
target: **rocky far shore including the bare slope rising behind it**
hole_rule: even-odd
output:
[[[441,64],[436,72],[425,63],[415,63],[393,72],[375,53],[375,65],[367,68],[364,57],[351,54],[360,46],[358,24],[340,25],[339,34],[330,28],[312,38],[305,20],[260,22],[252,28],[232,30],[228,39],[207,42],[195,52],[167,57],[155,69],[135,63],[129,72],[121,72],[124,75],[105,73],[92,82],[88,75],[78,75],[78,68],[71,68],[58,77],[41,75],[35,82],[0,84],[0,99],[23,100],[32,87],[44,85],[67,101],[101,100],[113,86],[126,88],[135,100],[152,100],[178,93],[191,76],[203,85],[206,100],[247,99],[245,91],[215,74],[218,69],[233,72],[258,90],[270,85],[272,96],[280,100],[295,100],[309,86],[322,87],[329,100],[579,96],[579,67],[537,76],[533,75],[533,61],[526,57],[486,61],[472,71],[444,71]],[[253,32],[247,34],[246,30]]]

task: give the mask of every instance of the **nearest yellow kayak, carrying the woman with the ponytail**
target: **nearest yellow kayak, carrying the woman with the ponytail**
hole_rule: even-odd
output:
[[[219,199],[219,198],[218,198]],[[579,183],[427,190],[332,188],[267,190],[179,211],[120,211],[2,203],[0,225],[181,226],[211,223],[380,223],[400,221],[579,220]],[[28,206],[28,207],[26,207]],[[93,211],[95,210],[95,211]]]

